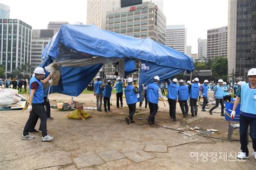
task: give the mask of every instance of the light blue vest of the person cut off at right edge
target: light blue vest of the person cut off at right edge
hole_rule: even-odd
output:
[[[256,115],[256,89],[251,89],[249,83],[241,86],[240,110],[246,114]]]

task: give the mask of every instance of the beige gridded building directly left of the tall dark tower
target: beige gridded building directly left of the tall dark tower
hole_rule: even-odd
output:
[[[217,56],[227,57],[227,26],[207,30],[207,61]]]

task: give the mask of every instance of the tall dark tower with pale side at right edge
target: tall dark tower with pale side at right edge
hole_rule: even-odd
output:
[[[256,1],[228,1],[228,77],[256,66]]]

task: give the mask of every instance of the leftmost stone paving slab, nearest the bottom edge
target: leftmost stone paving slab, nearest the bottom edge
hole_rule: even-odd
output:
[[[99,157],[96,153],[82,155],[80,157],[74,158],[77,168],[89,167],[93,165],[105,164],[104,160]]]

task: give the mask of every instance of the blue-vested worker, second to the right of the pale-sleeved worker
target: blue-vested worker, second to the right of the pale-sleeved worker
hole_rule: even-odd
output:
[[[178,100],[181,112],[183,114],[183,117],[186,117],[188,115],[188,105],[187,100],[189,97],[188,93],[188,87],[184,84],[183,80],[179,81],[179,91],[178,91]]]

